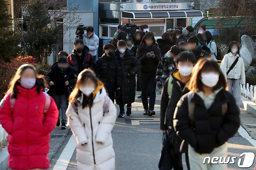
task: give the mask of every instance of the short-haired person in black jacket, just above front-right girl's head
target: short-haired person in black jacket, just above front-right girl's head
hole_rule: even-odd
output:
[[[188,39],[186,49],[193,52],[197,60],[199,60],[202,57],[209,57],[209,52],[202,49],[202,46],[199,43],[198,38],[196,36],[191,36]]]

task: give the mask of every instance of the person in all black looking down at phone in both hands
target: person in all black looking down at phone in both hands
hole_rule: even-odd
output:
[[[148,32],[142,39],[136,54],[140,60],[140,84],[141,99],[144,107],[144,115],[152,116],[155,113],[154,105],[156,101],[156,69],[161,57],[160,50],[156,45],[154,34]],[[147,91],[149,92],[149,104],[147,101]]]

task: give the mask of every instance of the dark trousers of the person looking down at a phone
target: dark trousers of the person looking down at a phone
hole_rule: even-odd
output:
[[[154,110],[156,102],[156,74],[140,72],[141,100],[144,109]],[[147,92],[149,92],[149,106],[147,102]]]

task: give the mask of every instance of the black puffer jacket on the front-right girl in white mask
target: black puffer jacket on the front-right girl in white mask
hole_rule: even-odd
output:
[[[174,113],[174,128],[177,134],[190,144],[197,153],[211,153],[233,137],[240,126],[240,109],[230,92],[220,90],[207,110],[202,98],[194,94],[194,123],[188,116],[188,94],[181,97]],[[222,114],[222,104],[227,103],[227,112]]]

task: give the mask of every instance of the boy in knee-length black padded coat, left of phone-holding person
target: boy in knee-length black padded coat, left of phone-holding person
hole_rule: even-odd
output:
[[[136,80],[135,75],[140,70],[139,60],[133,56],[132,52],[127,49],[126,42],[120,40],[117,42],[115,57],[121,66],[122,85],[121,89],[116,92],[116,103],[119,105],[119,118],[124,117],[124,105],[127,104],[126,115],[132,114],[132,103],[135,101]]]

